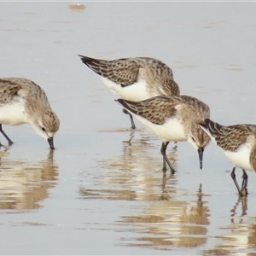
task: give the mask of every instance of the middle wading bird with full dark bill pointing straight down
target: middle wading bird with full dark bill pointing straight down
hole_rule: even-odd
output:
[[[117,102],[162,139],[160,152],[163,155],[164,172],[166,163],[175,172],[166,156],[170,141],[188,141],[192,144],[198,151],[202,168],[204,148],[210,137],[198,123],[210,117],[207,104],[191,96],[156,96],[142,102],[118,99]]]

